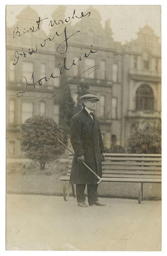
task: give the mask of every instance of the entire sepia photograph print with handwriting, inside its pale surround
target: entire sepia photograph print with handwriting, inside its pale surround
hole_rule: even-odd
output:
[[[161,251],[161,5],[6,5],[6,251]]]

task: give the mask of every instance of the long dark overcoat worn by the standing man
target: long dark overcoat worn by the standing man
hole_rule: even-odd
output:
[[[95,115],[93,118],[94,121],[84,108],[75,114],[71,120],[70,141],[75,155],[83,154],[85,164],[99,177],[102,177],[101,153],[103,153],[104,146],[98,118]],[[97,177],[74,156],[69,182],[71,184],[95,184]]]

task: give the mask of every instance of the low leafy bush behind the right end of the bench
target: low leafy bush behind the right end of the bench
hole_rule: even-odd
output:
[[[161,153],[161,129],[147,128],[131,134],[127,141],[127,153]]]

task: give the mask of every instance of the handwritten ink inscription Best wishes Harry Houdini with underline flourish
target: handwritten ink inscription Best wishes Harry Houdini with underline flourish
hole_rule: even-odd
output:
[[[51,20],[49,22],[48,26],[53,27],[54,25],[67,24],[70,20],[80,19],[80,18],[83,18],[83,17],[89,17],[90,14],[91,14],[90,12],[87,12],[86,14],[81,12],[81,15],[77,16],[77,15],[75,15],[75,9],[74,9],[73,15],[71,17],[68,16],[64,20],[58,20],[58,21],[56,21],[56,20],[52,21]],[[28,32],[33,33],[33,32],[36,32],[36,31],[40,30],[41,21],[44,21],[44,20],[46,21],[46,20],[48,20],[48,18],[41,19],[39,17],[38,21],[36,21],[37,25],[31,26],[29,29],[24,28],[22,31],[20,31],[19,27],[17,26],[14,29],[13,38],[18,39],[18,38],[20,38],[20,36],[23,36]],[[61,30],[58,31],[57,30],[55,32],[55,35],[53,35],[52,37],[48,37],[48,38],[44,39],[40,44],[36,44],[35,46],[32,46],[30,48],[28,47],[29,50],[25,50],[25,47],[22,47],[21,51],[16,50],[15,53],[14,53],[14,57],[16,58],[16,61],[13,63],[13,65],[17,65],[20,57],[26,58],[27,56],[34,55],[35,53],[37,53],[39,47],[45,47],[46,42],[50,42],[50,41],[54,40],[56,37],[60,37],[62,39],[61,43],[59,42],[59,45],[56,48],[57,52],[59,54],[65,54],[68,51],[68,40],[69,40],[69,38],[71,38],[72,36],[75,36],[75,34],[78,33],[78,32],[80,32],[80,31],[78,30],[78,31],[75,31],[73,33],[70,33],[70,35],[67,35],[67,27],[65,26],[65,27],[63,27],[63,31],[61,31]],[[63,46],[63,47],[61,47],[61,46]],[[61,49],[60,49],[60,47],[61,47]],[[92,47],[92,45],[91,45],[91,47]],[[42,85],[43,82],[48,82],[49,79],[51,79],[51,78],[52,79],[58,78],[60,75],[63,74],[64,71],[69,71],[73,66],[77,65],[78,62],[82,61],[84,58],[88,58],[90,54],[94,54],[96,52],[97,51],[93,51],[92,49],[90,49],[89,53],[85,53],[83,56],[80,56],[78,60],[73,59],[72,63],[69,63],[67,57],[65,56],[63,59],[61,59],[60,63],[58,64],[58,66],[60,67],[60,74],[57,75],[57,76],[55,76],[54,72],[52,72],[51,75],[49,76],[49,78],[48,77],[42,77],[39,80],[35,81],[35,78],[34,78],[35,73],[33,71],[30,82],[27,81],[27,78],[25,76],[21,77],[20,82],[26,88],[25,88],[24,91],[18,92],[17,96],[18,97],[23,96],[29,86],[33,86],[35,88],[35,85]],[[82,77],[85,77],[86,75],[94,72],[98,67],[99,67],[99,65],[96,65],[96,66],[93,66],[92,68],[87,69],[86,71],[83,71],[81,74],[79,74],[78,76],[71,79],[65,85],[62,85],[60,88],[53,91],[51,93],[51,94],[54,94],[54,95],[52,95],[52,97],[55,97],[55,95],[60,93],[60,91],[63,90],[64,88],[66,88],[66,86],[70,86],[72,83],[75,83],[76,81],[78,81]],[[49,95],[51,95],[51,94],[49,94]],[[48,97],[48,96],[46,96],[46,97]]]

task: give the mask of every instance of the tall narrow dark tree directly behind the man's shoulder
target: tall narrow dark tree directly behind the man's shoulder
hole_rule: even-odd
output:
[[[76,113],[75,102],[71,97],[71,91],[68,88],[63,90],[63,98],[60,102],[60,124],[63,133],[63,142],[66,144],[69,134],[71,118]]]

